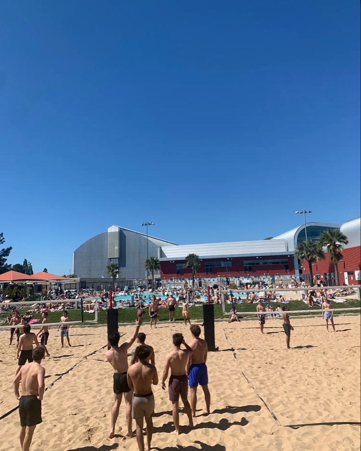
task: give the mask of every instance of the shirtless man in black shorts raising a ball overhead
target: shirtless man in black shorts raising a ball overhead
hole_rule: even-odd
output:
[[[119,407],[122,402],[122,397],[124,393],[124,399],[126,402],[126,418],[128,425],[128,435],[133,436],[133,431],[131,429],[131,389],[129,388],[127,382],[127,371],[128,371],[128,349],[135,342],[139,328],[143,322],[142,318],[137,320],[137,326],[135,328],[133,336],[125,343],[119,346],[120,335],[119,333],[111,334],[109,336],[108,345],[110,349],[105,352],[105,358],[113,367],[113,392],[114,392],[114,405],[111,409],[111,426],[109,438],[114,437],[115,424],[119,415]]]

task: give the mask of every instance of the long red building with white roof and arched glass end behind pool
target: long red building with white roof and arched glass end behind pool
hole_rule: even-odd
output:
[[[354,220],[355,221],[355,220]],[[341,230],[352,237],[357,232],[352,231],[346,222],[341,226]],[[339,224],[309,222],[307,224],[307,238],[317,240],[324,230],[339,228]],[[353,230],[353,229],[352,229]],[[356,229],[355,229],[356,230]],[[360,228],[359,228],[360,237]],[[173,281],[190,281],[192,278],[191,268],[184,267],[185,257],[188,254],[197,254],[201,259],[201,267],[197,270],[197,278],[205,279],[205,282],[214,283],[216,281],[227,281],[227,279],[238,279],[241,282],[250,281],[268,281],[268,283],[277,283],[279,280],[287,281],[291,279],[300,280],[309,279],[307,265],[303,265],[295,254],[297,244],[306,239],[305,225],[296,227],[272,239],[263,239],[257,241],[236,241],[208,244],[189,244],[180,246],[162,246],[160,268],[161,278]],[[350,239],[349,246],[354,247],[356,238]],[[360,267],[360,259],[355,259],[357,246],[360,252],[359,244],[356,249],[350,252],[354,263],[353,267]],[[352,244],[351,244],[352,243]],[[347,247],[347,246],[346,246]],[[348,258],[348,248],[345,249],[344,258]],[[318,265],[323,264],[319,262]],[[327,265],[327,264],[326,264]],[[330,285],[334,285],[333,266],[328,264],[325,272],[318,271],[322,279],[328,280]],[[354,270],[354,269],[353,269]],[[360,283],[360,282],[359,282]]]

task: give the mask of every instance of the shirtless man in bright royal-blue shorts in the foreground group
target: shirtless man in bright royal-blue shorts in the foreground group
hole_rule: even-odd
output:
[[[208,346],[205,340],[199,338],[201,335],[201,328],[193,324],[190,326],[190,331],[193,337],[189,347],[192,349],[192,363],[189,367],[189,388],[190,388],[190,405],[192,408],[192,417],[196,416],[197,406],[197,387],[201,385],[203,393],[205,395],[206,410],[205,413],[209,414],[210,408],[210,393],[208,390],[208,372],[207,372],[207,352]]]

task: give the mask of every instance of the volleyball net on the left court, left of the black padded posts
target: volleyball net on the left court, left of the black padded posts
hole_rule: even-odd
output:
[[[3,302],[0,304],[0,330],[18,328],[18,322],[11,318],[18,315],[21,325],[30,324],[31,328],[42,326],[42,314],[47,313],[47,326],[59,326],[63,312],[67,312],[69,321],[67,324],[96,324],[98,322],[98,299],[61,299],[52,301],[19,301]]]

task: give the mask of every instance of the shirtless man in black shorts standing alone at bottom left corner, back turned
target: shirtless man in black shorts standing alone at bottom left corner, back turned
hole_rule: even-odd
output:
[[[39,346],[33,349],[31,363],[21,367],[13,383],[15,397],[19,400],[20,445],[22,451],[29,450],[35,427],[43,421],[41,418],[41,401],[45,389],[45,370],[40,363],[44,353],[43,347]],[[21,396],[19,394],[20,382]]]

